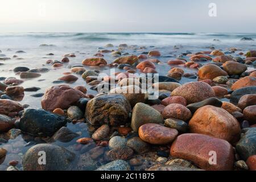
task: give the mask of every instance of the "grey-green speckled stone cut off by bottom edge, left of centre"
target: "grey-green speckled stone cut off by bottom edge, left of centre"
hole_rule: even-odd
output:
[[[114,160],[97,168],[96,171],[130,171],[130,165],[125,160]]]

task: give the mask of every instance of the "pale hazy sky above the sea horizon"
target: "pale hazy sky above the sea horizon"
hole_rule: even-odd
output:
[[[210,17],[209,3],[217,16]],[[255,0],[0,0],[0,32],[255,32]]]

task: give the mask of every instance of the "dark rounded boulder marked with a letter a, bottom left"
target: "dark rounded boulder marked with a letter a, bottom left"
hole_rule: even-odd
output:
[[[39,154],[45,154],[46,164],[39,164],[42,162],[39,159]],[[52,144],[36,144],[28,149],[23,156],[22,166],[24,171],[64,171],[72,168],[74,160],[75,154],[63,147]]]

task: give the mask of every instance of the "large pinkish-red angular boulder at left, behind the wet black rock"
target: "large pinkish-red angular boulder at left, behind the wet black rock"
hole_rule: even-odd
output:
[[[84,93],[67,85],[51,86],[46,89],[41,105],[43,109],[49,111],[56,108],[68,109],[82,97],[85,97]]]

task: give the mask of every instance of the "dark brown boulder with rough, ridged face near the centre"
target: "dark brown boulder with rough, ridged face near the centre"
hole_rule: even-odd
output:
[[[112,126],[128,122],[130,103],[121,94],[94,97],[86,105],[85,117],[92,125],[108,123]]]

